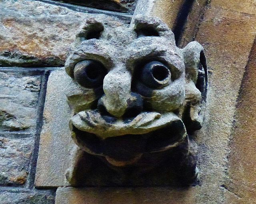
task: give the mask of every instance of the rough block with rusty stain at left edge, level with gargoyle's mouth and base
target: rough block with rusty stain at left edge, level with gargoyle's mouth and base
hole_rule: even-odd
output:
[[[32,136],[10,138],[0,133],[0,186],[22,186],[26,183],[33,147]]]

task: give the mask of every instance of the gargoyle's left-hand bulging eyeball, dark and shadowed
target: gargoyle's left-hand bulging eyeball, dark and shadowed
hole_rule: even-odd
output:
[[[102,85],[106,74],[107,70],[103,64],[93,60],[78,62],[74,68],[74,79],[87,88]]]

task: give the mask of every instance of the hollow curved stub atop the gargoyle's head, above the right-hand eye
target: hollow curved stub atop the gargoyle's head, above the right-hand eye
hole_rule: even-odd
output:
[[[173,32],[162,20],[160,20],[160,18],[143,16],[140,14],[133,18],[131,25],[133,25],[133,29],[138,37],[163,36],[169,38],[168,40],[173,38],[173,41],[175,42]]]

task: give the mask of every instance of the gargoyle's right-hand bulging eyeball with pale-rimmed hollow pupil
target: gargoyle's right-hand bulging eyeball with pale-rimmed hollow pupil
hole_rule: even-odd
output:
[[[171,72],[161,62],[152,61],[144,65],[140,78],[149,87],[162,88],[170,84]]]

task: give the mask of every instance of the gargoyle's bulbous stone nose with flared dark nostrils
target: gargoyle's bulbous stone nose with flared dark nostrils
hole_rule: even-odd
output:
[[[111,70],[103,81],[104,95],[98,102],[98,108],[115,116],[136,116],[142,111],[142,98],[131,92],[132,76],[127,70]]]

